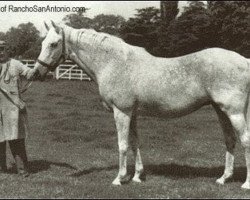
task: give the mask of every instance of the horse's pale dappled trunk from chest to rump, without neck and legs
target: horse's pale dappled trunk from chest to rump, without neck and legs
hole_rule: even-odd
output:
[[[178,117],[246,90],[246,59],[229,50],[205,49],[174,58],[131,48],[127,59],[105,69],[99,85],[107,102],[120,109],[138,105],[150,115]]]

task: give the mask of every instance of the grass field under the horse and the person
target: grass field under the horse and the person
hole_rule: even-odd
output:
[[[178,119],[140,116],[145,181],[119,187],[111,184],[118,172],[113,115],[103,108],[94,82],[34,82],[23,97],[32,174],[24,179],[1,174],[0,198],[250,198],[250,191],[240,188],[246,167],[239,142],[233,179],[215,183],[224,170],[225,144],[210,106]],[[8,155],[11,167],[9,149]],[[132,152],[128,155],[132,176]]]

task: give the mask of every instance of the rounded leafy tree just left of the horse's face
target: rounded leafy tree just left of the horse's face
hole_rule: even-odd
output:
[[[11,27],[6,33],[6,49],[10,57],[22,56],[39,39],[39,31],[28,22]]]

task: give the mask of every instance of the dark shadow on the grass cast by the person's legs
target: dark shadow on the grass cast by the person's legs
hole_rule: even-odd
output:
[[[48,169],[50,169],[51,165],[55,165],[58,167],[64,167],[64,168],[68,168],[68,169],[72,169],[72,170],[77,170],[77,168],[67,164],[67,163],[60,163],[60,162],[50,162],[47,160],[32,160],[29,161],[29,171],[32,174],[41,172],[41,171],[47,171]]]

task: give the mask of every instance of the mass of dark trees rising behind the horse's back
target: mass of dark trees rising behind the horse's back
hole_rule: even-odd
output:
[[[247,1],[191,1],[176,17],[174,2],[138,9],[121,28],[122,38],[156,56],[181,56],[209,47],[234,50],[250,57],[250,3]]]

